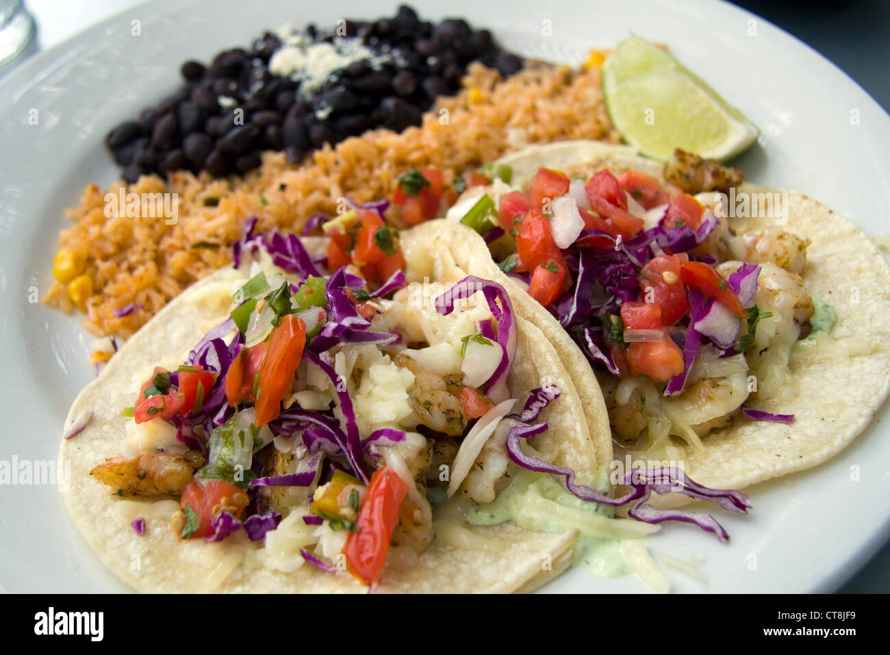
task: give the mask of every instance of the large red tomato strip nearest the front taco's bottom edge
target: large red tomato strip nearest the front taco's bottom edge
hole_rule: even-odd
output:
[[[399,522],[399,507],[408,485],[390,467],[374,471],[361,504],[358,531],[346,537],[346,569],[369,584],[380,577],[389,552],[392,530]]]

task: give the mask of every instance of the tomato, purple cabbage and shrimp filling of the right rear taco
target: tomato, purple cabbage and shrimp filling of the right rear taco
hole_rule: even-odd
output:
[[[499,230],[498,266],[595,366],[627,446],[673,435],[697,448],[739,414],[794,420],[752,405],[787,392],[790,349],[812,329],[800,277],[808,242],[779,225],[734,233],[718,195],[685,188],[635,170],[542,167],[522,187],[465,191],[447,215],[492,255]]]

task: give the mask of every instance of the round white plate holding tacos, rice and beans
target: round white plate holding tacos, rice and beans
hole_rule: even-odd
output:
[[[51,283],[53,245],[67,220],[62,209],[77,205],[85,184],[114,179],[102,143],[109,128],[172,93],[185,59],[208,61],[287,21],[333,25],[341,17],[392,15],[395,6],[375,5],[307,3],[297,12],[287,0],[162,0],[86,30],[0,83],[0,460],[54,460],[69,403],[93,375],[86,364],[92,338],[77,318],[29,300]],[[630,31],[666,43],[763,130],[737,162],[748,179],[811,195],[868,233],[890,231],[890,117],[835,66],[765,20],[730,4],[682,0],[416,5],[425,19],[464,16],[508,48],[559,61],[577,63],[588,48],[614,45]],[[131,34],[133,20],[142,36]],[[36,125],[28,121],[33,110]],[[827,592],[843,584],[890,535],[886,415],[885,406],[828,464],[748,489],[748,516],[717,512],[730,544],[685,525],[653,537],[653,553],[703,559],[707,585],[667,569],[674,588]],[[125,591],[77,533],[52,485],[0,487],[0,526],[6,591]],[[643,589],[635,577],[603,581],[582,569],[546,587]]]

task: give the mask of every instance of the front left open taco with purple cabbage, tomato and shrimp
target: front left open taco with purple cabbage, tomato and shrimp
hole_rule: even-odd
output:
[[[562,359],[503,287],[457,265],[452,227],[400,236],[379,209],[334,218],[321,239],[247,221],[235,266],[171,302],[77,397],[65,503],[126,583],[526,591],[570,564],[578,516],[592,534],[657,529],[611,519],[603,532],[624,502],[603,475],[608,433],[592,432]],[[350,266],[320,266],[332,243]],[[558,508],[548,471],[587,496],[574,523],[481,517],[513,478],[541,490],[538,519]]]

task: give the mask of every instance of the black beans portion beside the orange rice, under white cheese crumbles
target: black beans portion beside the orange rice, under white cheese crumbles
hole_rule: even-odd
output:
[[[334,71],[317,89],[271,73],[268,62],[282,46],[271,32],[209,63],[184,61],[180,88],[106,136],[124,179],[180,169],[244,174],[261,165],[264,150],[284,151],[298,164],[313,148],[368,129],[419,125],[437,97],[457,93],[472,61],[505,76],[524,65],[488,29],[459,18],[421,20],[407,5],[390,17],[340,26],[345,37],[335,25],[309,25],[303,36],[315,43],[357,38],[375,58]]]

